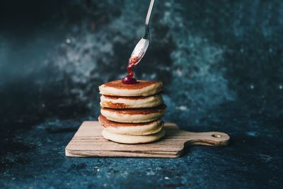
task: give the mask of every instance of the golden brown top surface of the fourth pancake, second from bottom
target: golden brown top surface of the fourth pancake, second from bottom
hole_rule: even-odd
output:
[[[144,123],[114,122],[114,121],[108,120],[103,115],[99,115],[98,120],[103,127],[134,127],[134,126],[150,125],[151,123],[158,121],[158,120],[154,120],[151,122],[144,122]]]

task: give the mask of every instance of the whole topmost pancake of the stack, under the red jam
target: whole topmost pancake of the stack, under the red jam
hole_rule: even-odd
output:
[[[110,81],[99,86],[105,96],[151,96],[162,90],[161,81],[141,81],[137,84],[123,84],[121,80]]]

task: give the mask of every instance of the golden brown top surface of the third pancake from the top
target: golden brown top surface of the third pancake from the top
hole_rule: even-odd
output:
[[[130,108],[130,109],[112,109],[112,108],[102,108],[103,110],[108,110],[113,113],[119,114],[151,114],[151,113],[162,113],[166,109],[165,104],[158,105],[154,108]]]

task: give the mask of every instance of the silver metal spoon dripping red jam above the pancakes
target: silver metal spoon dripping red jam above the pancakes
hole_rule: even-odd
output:
[[[147,14],[146,14],[146,25],[145,25],[146,31],[145,31],[144,37],[141,38],[141,40],[139,40],[139,42],[137,43],[136,47],[134,47],[134,50],[133,50],[132,55],[130,57],[130,59],[132,59],[132,58],[137,59],[137,62],[134,62],[134,64],[132,64],[132,66],[137,65],[141,61],[141,58],[144,57],[144,54],[146,53],[146,50],[149,47],[149,40],[150,40],[149,18],[151,16],[151,11],[152,11],[153,7],[154,7],[154,0],[151,0],[150,4],[149,4],[149,11],[147,11]]]

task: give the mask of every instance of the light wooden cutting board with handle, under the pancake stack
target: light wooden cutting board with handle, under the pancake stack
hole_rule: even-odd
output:
[[[166,136],[148,144],[119,144],[104,139],[103,127],[97,121],[83,122],[65,149],[66,156],[89,157],[162,157],[177,158],[185,146],[225,146],[229,135],[224,132],[187,132],[166,122]]]

